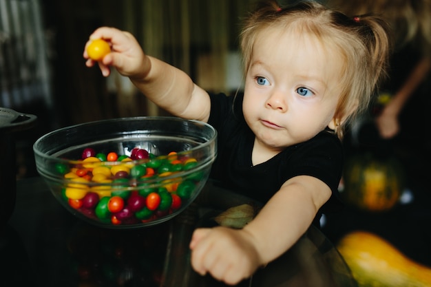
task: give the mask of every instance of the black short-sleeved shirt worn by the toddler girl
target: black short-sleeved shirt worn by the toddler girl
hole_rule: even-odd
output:
[[[209,124],[218,131],[218,156],[211,178],[222,186],[238,191],[262,203],[267,202],[288,180],[307,175],[319,178],[333,195],[322,212],[338,209],[338,184],[341,178],[343,150],[341,141],[329,130],[306,142],[287,147],[277,156],[253,166],[251,154],[255,135],[242,115],[242,94],[210,94]]]

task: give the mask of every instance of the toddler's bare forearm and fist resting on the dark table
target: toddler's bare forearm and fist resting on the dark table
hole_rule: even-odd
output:
[[[227,284],[250,277],[259,266],[297,242],[330,194],[324,182],[297,176],[288,180],[244,228],[196,229],[190,242],[193,268]]]

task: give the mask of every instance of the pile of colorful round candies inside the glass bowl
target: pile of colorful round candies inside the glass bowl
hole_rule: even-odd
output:
[[[198,161],[174,151],[156,157],[136,147],[125,156],[87,147],[78,162],[56,167],[70,180],[63,198],[76,211],[105,224],[138,224],[169,215],[189,200],[202,180],[199,171],[175,176]]]

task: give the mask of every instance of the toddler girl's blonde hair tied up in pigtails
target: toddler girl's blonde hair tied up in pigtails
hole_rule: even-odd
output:
[[[349,18],[314,1],[280,8],[275,1],[260,2],[240,34],[244,70],[248,71],[257,36],[267,28],[288,31],[299,28],[318,39],[323,47],[339,51],[344,59],[341,97],[335,118],[342,119],[337,136],[342,138],[351,120],[366,111],[381,77],[386,75],[390,41],[388,25],[379,17]]]

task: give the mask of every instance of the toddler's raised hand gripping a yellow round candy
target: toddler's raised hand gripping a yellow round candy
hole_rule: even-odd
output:
[[[87,53],[88,45],[95,39],[103,39],[111,45],[111,52],[97,62],[103,76],[109,76],[111,73],[109,66],[112,66],[123,76],[145,78],[151,65],[138,41],[129,32],[116,28],[98,28],[90,35],[83,53],[84,58],[87,59],[85,62],[87,67],[92,67],[96,63]]]

